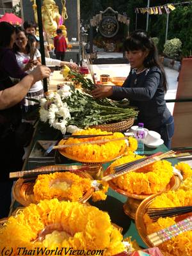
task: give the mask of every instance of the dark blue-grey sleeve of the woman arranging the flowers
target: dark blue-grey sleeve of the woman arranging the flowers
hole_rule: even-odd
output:
[[[145,86],[139,88],[125,88],[114,86],[113,87],[113,95],[119,99],[131,99],[131,100],[139,100],[139,101],[147,101],[151,100],[159,86],[161,79],[161,74],[159,72],[152,72],[148,74],[147,79],[145,80]]]

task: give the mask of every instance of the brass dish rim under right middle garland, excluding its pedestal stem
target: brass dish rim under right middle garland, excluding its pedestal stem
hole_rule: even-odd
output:
[[[108,168],[106,169],[106,172],[104,172],[104,176],[109,175],[111,173],[110,172],[110,167],[111,166],[108,166]],[[131,197],[131,198],[138,199],[138,200],[144,200],[148,196],[151,196],[151,195],[131,194],[131,193],[127,192],[127,191],[124,191],[123,189],[118,188],[118,186],[116,186],[116,184],[114,184],[112,180],[109,180],[108,183],[109,183],[109,187],[111,189],[113,189],[117,193],[120,193],[120,194],[122,194],[124,196],[127,196],[127,197]],[[164,189],[163,191],[159,191],[159,193],[166,192],[166,191],[169,191],[169,190],[176,190],[176,189],[179,188],[179,186],[180,186],[180,179],[179,179],[179,177],[173,175],[172,178],[170,179],[170,183],[166,186],[166,189]]]

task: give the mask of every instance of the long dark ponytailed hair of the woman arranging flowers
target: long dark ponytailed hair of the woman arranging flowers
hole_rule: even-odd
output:
[[[159,61],[157,47],[154,44],[152,38],[148,36],[146,31],[136,30],[124,42],[125,51],[148,51],[148,56],[143,61],[143,65],[146,68],[158,67],[161,70],[163,76],[163,88],[166,92],[168,89],[166,76],[164,73],[163,65]]]

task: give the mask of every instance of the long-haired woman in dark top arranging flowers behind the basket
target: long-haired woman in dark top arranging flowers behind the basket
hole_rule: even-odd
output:
[[[147,129],[159,132],[170,148],[174,132],[173,117],[166,107],[164,94],[166,76],[159,63],[156,46],[145,31],[134,31],[124,43],[131,72],[122,87],[101,86],[92,91],[95,98],[129,99],[140,113],[138,122]]]

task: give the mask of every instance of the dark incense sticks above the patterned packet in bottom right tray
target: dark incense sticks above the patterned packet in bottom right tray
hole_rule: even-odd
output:
[[[159,218],[174,217],[192,212],[192,206],[168,207],[168,208],[148,208],[147,214],[153,221]]]

